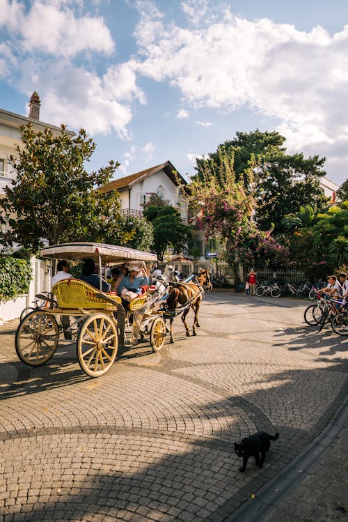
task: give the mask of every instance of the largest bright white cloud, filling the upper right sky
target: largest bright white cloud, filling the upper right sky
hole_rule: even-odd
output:
[[[182,3],[190,20],[198,5]],[[225,10],[193,30],[142,20],[139,39],[139,72],[175,86],[193,109],[251,108],[276,118],[287,145],[301,151],[348,138],[348,26],[330,36]]]

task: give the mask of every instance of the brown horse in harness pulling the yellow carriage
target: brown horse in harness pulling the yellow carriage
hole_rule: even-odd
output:
[[[184,323],[184,327],[186,330],[186,335],[189,337],[190,332],[186,323],[186,316],[189,313],[190,308],[192,308],[194,312],[193,326],[192,326],[192,335],[196,334],[196,326],[199,326],[198,323],[198,312],[200,308],[200,302],[203,299],[204,291],[212,290],[212,282],[210,281],[209,270],[200,269],[200,274],[195,277],[195,282],[189,283],[177,283],[175,286],[172,286],[169,291],[168,298],[166,300],[166,307],[168,309],[168,318],[171,323],[171,340],[173,343],[173,321],[175,312],[180,314],[180,307],[182,308],[182,322]],[[178,308],[178,305],[180,307]]]

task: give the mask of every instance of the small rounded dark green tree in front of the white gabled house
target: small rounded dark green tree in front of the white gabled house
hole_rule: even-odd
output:
[[[187,247],[192,231],[182,224],[177,208],[166,204],[150,204],[145,206],[143,215],[153,226],[152,252],[157,254],[159,260],[164,259],[168,248],[179,253]]]

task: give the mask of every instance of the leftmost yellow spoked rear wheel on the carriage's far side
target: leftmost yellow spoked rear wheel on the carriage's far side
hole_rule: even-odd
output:
[[[15,348],[19,359],[29,366],[45,364],[56,351],[59,328],[56,318],[45,312],[30,312],[19,323]]]

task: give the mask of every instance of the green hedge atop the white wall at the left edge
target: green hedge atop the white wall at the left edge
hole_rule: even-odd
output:
[[[13,256],[0,257],[0,302],[27,293],[32,277],[30,261]]]

